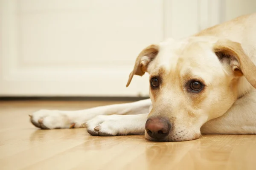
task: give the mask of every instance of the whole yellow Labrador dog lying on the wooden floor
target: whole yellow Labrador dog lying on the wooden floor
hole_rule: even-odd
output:
[[[143,49],[134,75],[150,75],[150,99],[82,111],[41,110],[42,129],[87,127],[98,136],[144,134],[186,141],[204,134],[256,133],[256,14],[238,17],[182,40]]]

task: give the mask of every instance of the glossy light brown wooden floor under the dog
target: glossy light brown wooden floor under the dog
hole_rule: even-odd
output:
[[[256,135],[205,135],[188,142],[90,136],[84,128],[39,130],[38,109],[118,102],[0,102],[0,170],[255,170]]]

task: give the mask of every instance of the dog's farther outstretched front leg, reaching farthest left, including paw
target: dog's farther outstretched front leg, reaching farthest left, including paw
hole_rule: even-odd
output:
[[[41,110],[30,115],[30,121],[41,129],[82,127],[82,124],[99,115],[126,115],[148,113],[150,99],[137,102],[99,106],[80,111]]]

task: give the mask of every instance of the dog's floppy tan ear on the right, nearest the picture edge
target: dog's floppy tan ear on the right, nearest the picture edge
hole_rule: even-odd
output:
[[[228,61],[235,76],[244,76],[256,88],[256,66],[244,53],[241,44],[231,40],[219,40],[213,51],[221,62]]]

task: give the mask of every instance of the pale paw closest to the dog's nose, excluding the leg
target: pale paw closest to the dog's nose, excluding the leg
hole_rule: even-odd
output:
[[[116,136],[125,135],[121,133],[122,122],[119,115],[99,115],[87,121],[82,126],[87,127],[87,132],[93,136]]]

